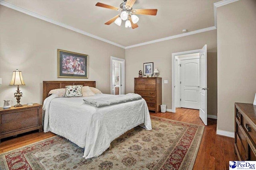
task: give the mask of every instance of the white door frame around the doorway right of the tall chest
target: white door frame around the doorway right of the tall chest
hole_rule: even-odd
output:
[[[199,53],[201,49],[196,50],[190,50],[190,51],[182,51],[178,53],[172,53],[172,113],[176,113],[176,106],[175,106],[175,75],[176,75],[176,59],[175,56],[177,55],[186,55],[186,54],[193,54],[193,53]],[[111,74],[112,75],[112,74]]]

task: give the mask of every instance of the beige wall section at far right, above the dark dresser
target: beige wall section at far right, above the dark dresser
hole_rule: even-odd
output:
[[[256,1],[217,8],[217,129],[234,132],[234,102],[253,103],[256,93]]]

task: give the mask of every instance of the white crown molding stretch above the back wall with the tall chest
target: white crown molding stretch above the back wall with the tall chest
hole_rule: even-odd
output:
[[[216,29],[215,26],[208,27],[208,28],[203,28],[203,29],[198,29],[196,31],[190,31],[188,33],[182,33],[182,34],[173,35],[173,36],[170,36],[170,37],[165,37],[165,38],[156,39],[156,40],[153,40],[153,41],[148,41],[148,42],[145,42],[145,43],[130,45],[130,46],[125,47],[125,49],[130,49],[130,48],[133,48],[133,47],[138,47],[138,46],[142,46],[142,45],[157,43],[157,42],[160,42],[160,41],[166,41],[166,40],[169,40],[169,39],[174,39],[174,38],[184,37],[184,36],[193,35],[193,34],[197,34],[197,33],[202,33],[202,32],[205,32],[205,31],[211,31],[211,30],[214,30],[214,29]]]

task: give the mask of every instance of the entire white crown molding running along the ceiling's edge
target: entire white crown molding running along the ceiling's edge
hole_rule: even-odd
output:
[[[76,31],[78,33],[81,33],[83,35],[87,35],[89,37],[92,37],[92,38],[95,38],[95,39],[98,39],[100,41],[104,41],[106,43],[110,43],[112,45],[115,45],[117,47],[121,47],[123,49],[130,49],[130,48],[133,48],[133,47],[138,47],[138,46],[142,46],[142,45],[147,45],[147,44],[152,44],[152,43],[157,43],[157,42],[160,42],[160,41],[166,41],[166,40],[169,40],[169,39],[174,39],[174,38],[179,38],[179,37],[184,37],[184,36],[187,36],[187,35],[193,35],[193,34],[196,34],[196,33],[202,33],[202,32],[205,32],[205,31],[211,31],[211,30],[214,30],[214,29],[217,29],[217,8],[220,7],[220,6],[224,6],[226,4],[230,4],[232,2],[236,2],[238,0],[222,0],[220,2],[216,2],[214,3],[214,25],[215,26],[212,26],[212,27],[208,27],[208,28],[203,28],[203,29],[198,29],[196,31],[191,31],[191,32],[188,32],[188,33],[182,33],[182,34],[178,34],[178,35],[173,35],[173,36],[170,36],[170,37],[165,37],[165,38],[161,38],[161,39],[156,39],[156,40],[153,40],[153,41],[148,41],[148,42],[144,42],[144,43],[139,43],[139,44],[135,44],[135,45],[130,45],[130,46],[123,46],[123,45],[120,45],[118,43],[114,43],[112,41],[109,41],[107,39],[104,39],[104,38],[101,38],[101,37],[98,37],[96,35],[93,35],[91,33],[88,33],[86,31],[82,31],[80,29],[77,29],[75,27],[72,27],[70,25],[66,25],[64,23],[61,23],[61,22],[58,22],[58,21],[54,21],[50,18],[47,18],[45,16],[42,16],[42,15],[39,15],[39,14],[36,14],[34,12],[31,12],[29,10],[26,10],[24,8],[20,8],[16,5],[13,5],[13,4],[10,4],[8,2],[5,2],[3,0],[0,0],[0,5],[2,6],[6,6],[8,8],[11,8],[13,10],[16,10],[16,11],[19,11],[19,12],[22,12],[24,14],[27,14],[27,15],[30,15],[30,16],[33,16],[35,18],[38,18],[38,19],[41,19],[41,20],[44,20],[44,21],[47,21],[47,22],[50,22],[50,23],[53,23],[55,25],[58,25],[58,26],[61,26],[61,27],[64,27],[66,29],[70,29],[72,31]]]

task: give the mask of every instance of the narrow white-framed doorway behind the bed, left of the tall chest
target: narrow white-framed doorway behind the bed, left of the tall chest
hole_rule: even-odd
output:
[[[119,95],[124,94],[125,88],[124,88],[124,80],[125,80],[125,74],[124,74],[124,66],[125,66],[125,60],[119,59],[116,57],[111,57],[111,94]]]

